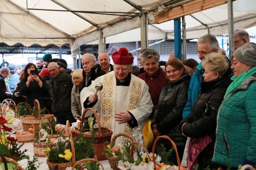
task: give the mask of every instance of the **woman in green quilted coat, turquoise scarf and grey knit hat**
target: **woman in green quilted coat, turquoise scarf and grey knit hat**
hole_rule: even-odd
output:
[[[232,168],[256,165],[256,44],[247,43],[231,56],[234,82],[218,110],[212,161]]]

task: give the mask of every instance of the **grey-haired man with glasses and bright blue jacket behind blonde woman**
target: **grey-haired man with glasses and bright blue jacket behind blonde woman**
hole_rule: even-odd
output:
[[[197,55],[202,61],[207,54],[218,53],[219,43],[214,35],[206,34],[201,36],[197,41]],[[189,88],[188,88],[188,101],[183,110],[183,118],[187,117],[192,113],[192,106],[201,93],[201,83],[203,82],[204,69],[200,62],[193,73]]]

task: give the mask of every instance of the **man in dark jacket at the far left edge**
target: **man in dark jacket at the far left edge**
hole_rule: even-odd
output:
[[[10,75],[10,70],[7,67],[2,67],[0,69],[0,102],[4,99],[10,99],[11,94],[6,93],[6,86],[4,79]]]

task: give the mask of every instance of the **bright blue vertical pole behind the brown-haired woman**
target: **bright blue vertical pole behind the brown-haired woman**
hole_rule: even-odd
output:
[[[174,54],[181,61],[181,27],[180,18],[174,20]]]

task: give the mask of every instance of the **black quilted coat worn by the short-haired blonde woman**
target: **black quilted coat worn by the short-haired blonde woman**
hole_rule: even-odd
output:
[[[187,116],[180,123],[180,127],[183,123],[186,123],[182,127],[182,130],[183,134],[188,137],[197,139],[208,135],[211,138],[212,142],[198,155],[198,164],[203,167],[210,166],[210,168],[218,168],[218,165],[211,162],[216,139],[216,117],[219,106],[230,83],[230,76],[203,82],[201,95],[194,103],[192,114]],[[206,112],[205,103],[208,105]]]

